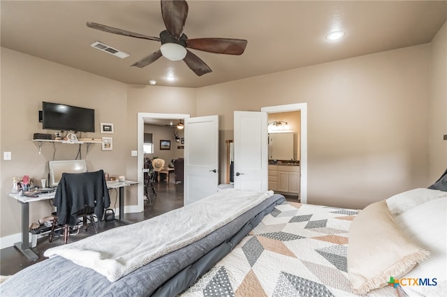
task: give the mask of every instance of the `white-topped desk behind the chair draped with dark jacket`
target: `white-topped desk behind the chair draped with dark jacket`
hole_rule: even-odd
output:
[[[119,220],[124,218],[124,187],[135,185],[138,181],[108,181],[107,188],[119,188]],[[36,261],[38,255],[29,247],[29,202],[53,199],[56,191],[38,195],[38,197],[26,197],[17,193],[9,193],[8,196],[16,199],[22,205],[22,241],[14,243],[15,248],[20,250],[25,257],[31,261]]]

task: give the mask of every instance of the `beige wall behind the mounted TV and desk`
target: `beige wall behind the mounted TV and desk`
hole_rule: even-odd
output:
[[[195,89],[129,86],[1,47],[1,152],[12,152],[12,160],[0,161],[1,238],[20,232],[20,204],[6,195],[13,176],[28,174],[40,180],[48,172],[48,161],[74,159],[78,153],[78,145],[53,147],[45,143],[39,155],[38,143],[31,141],[33,134],[54,132],[42,130],[38,123],[42,101],[95,109],[96,132],[82,137],[112,137],[113,150],[101,151],[101,144],[91,144],[87,155],[83,144],[87,169],[104,169],[112,176],[125,174],[134,180],[137,158],[131,157],[131,151],[137,150],[138,112],[196,114]],[[101,135],[99,123],[114,123],[115,133]],[[135,205],[136,201],[136,187],[126,188],[125,205]],[[50,211],[48,201],[32,203],[30,222],[37,222]]]

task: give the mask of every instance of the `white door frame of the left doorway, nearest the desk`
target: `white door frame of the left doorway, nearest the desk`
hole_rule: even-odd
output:
[[[138,187],[137,187],[137,210],[136,212],[141,212],[145,210],[145,196],[143,194],[144,190],[144,176],[142,169],[144,167],[144,154],[143,154],[143,134],[145,132],[145,118],[152,119],[189,119],[191,115],[189,114],[154,114],[150,112],[138,112],[138,123],[137,123],[137,176],[138,176]]]

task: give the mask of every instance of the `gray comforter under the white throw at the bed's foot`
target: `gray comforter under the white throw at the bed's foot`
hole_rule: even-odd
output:
[[[196,243],[166,254],[116,282],[54,257],[26,268],[0,285],[1,296],[176,296],[230,252],[284,201],[273,195]]]

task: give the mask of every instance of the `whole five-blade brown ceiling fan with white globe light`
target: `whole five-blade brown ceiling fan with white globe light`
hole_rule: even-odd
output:
[[[188,16],[188,3],[184,0],[161,1],[161,15],[165,23],[166,30],[161,31],[160,37],[147,36],[140,33],[134,33],[123,29],[87,22],[87,26],[108,33],[118,35],[155,40],[161,42],[160,50],[145,56],[140,61],[133,63],[132,66],[145,67],[153,63],[161,56],[171,61],[183,60],[186,65],[193,70],[196,75],[201,76],[212,72],[211,68],[198,56],[186,50],[186,47],[201,50],[203,52],[212,52],[215,54],[235,54],[240,55],[247,46],[247,40],[233,38],[195,38],[189,39],[184,33],[184,24]]]

